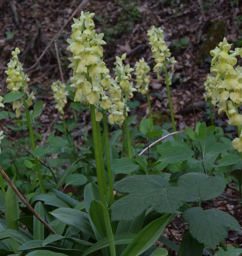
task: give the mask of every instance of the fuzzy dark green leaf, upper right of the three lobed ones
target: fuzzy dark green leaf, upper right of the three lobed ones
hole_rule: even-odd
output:
[[[185,191],[186,202],[206,201],[223,194],[226,183],[221,177],[192,172],[179,177],[178,186]]]

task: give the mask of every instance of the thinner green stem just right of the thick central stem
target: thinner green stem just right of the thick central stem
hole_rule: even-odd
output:
[[[105,140],[108,183],[109,183],[109,193],[110,193],[110,205],[112,205],[114,203],[114,184],[112,182],[112,170],[111,170],[111,161],[110,161],[110,152],[109,152],[107,115],[104,110],[103,110],[103,136],[104,136],[104,140]]]

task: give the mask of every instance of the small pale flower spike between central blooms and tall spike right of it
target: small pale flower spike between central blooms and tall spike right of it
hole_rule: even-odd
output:
[[[150,76],[147,73],[150,71],[150,67],[142,57],[135,63],[135,75],[136,75],[136,88],[139,93],[145,95],[148,92]]]

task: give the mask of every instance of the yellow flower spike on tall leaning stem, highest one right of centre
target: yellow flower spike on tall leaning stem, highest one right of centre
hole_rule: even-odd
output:
[[[149,36],[149,44],[151,45],[151,51],[153,53],[153,58],[155,59],[156,65],[153,71],[157,73],[158,79],[160,79],[159,73],[163,70],[164,64],[171,63],[171,70],[174,69],[174,65],[177,62],[174,57],[171,57],[170,50],[168,49],[166,42],[164,40],[163,30],[161,28],[155,28],[152,26],[150,30],[147,31]],[[171,81],[172,74],[169,75],[169,81]]]

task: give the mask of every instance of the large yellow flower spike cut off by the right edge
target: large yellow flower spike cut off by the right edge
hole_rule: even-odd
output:
[[[212,97],[216,97],[219,104],[218,114],[223,112],[229,118],[229,125],[242,125],[242,115],[238,107],[242,103],[242,67],[237,64],[237,56],[242,57],[242,48],[230,50],[231,45],[224,38],[218,47],[210,51],[213,56],[211,61],[211,72],[215,76],[215,89]],[[239,152],[242,151],[242,134],[240,138],[232,141],[232,146]]]

